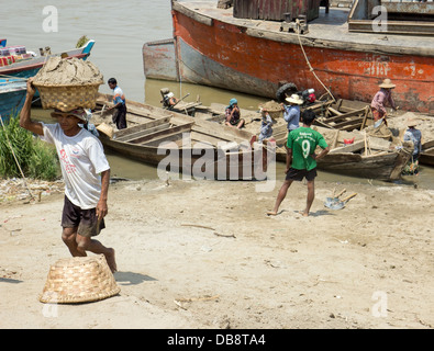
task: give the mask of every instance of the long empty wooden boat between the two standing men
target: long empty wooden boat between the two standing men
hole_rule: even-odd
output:
[[[112,97],[99,94],[94,116],[111,105]],[[252,143],[253,135],[245,131],[223,127],[209,121],[164,110],[138,102],[126,101],[127,128],[104,132],[105,118],[93,122],[104,147],[133,159],[158,167],[182,177],[218,180],[265,180],[268,155],[272,149]],[[108,120],[109,118],[109,120]],[[105,121],[105,124],[101,122]]]

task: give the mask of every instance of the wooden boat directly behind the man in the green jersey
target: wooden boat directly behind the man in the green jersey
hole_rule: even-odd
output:
[[[318,169],[367,179],[385,181],[399,180],[401,172],[410,159],[412,146],[398,145],[385,138],[369,136],[369,129],[346,132],[330,129],[318,125],[319,131],[331,146],[332,150],[318,161]],[[366,134],[365,134],[366,133]],[[276,144],[276,160],[286,162],[283,145],[287,140],[286,126],[274,132]],[[346,145],[345,140],[349,140]]]

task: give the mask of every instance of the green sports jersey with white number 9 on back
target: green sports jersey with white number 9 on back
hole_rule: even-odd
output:
[[[311,155],[315,151],[316,146],[325,149],[327,143],[321,133],[312,128],[299,127],[289,133],[287,146],[292,149],[291,167],[310,171],[316,167],[316,161]]]

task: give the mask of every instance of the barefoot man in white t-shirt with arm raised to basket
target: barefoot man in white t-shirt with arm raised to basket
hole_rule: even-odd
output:
[[[78,124],[86,121],[82,109],[52,113],[56,124],[34,122],[31,118],[35,88],[27,80],[27,94],[20,115],[20,126],[37,134],[42,140],[54,144],[60,160],[65,181],[65,201],[62,214],[62,239],[74,257],[86,251],[102,253],[112,272],[116,271],[114,250],[92,239],[105,227],[110,166],[101,141]],[[101,176],[99,176],[101,173]]]

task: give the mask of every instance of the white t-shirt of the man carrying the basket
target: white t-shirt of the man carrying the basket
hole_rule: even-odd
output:
[[[101,141],[89,131],[66,136],[60,125],[44,124],[41,139],[56,146],[65,181],[65,195],[82,210],[94,208],[101,194],[99,173],[110,169]]]

